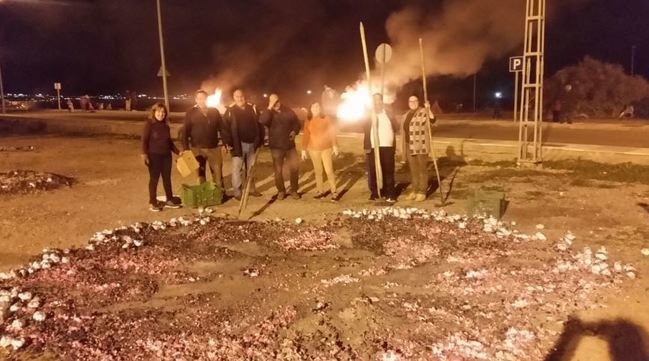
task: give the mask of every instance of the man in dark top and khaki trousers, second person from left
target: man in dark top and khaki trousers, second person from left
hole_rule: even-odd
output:
[[[223,187],[223,156],[219,146],[219,133],[222,132],[221,113],[207,107],[207,92],[198,90],[194,96],[196,105],[185,114],[182,134],[183,149],[190,150],[198,161],[198,180],[205,182],[206,163],[212,173],[212,181]]]

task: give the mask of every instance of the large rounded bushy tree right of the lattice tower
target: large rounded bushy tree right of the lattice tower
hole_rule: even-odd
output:
[[[546,107],[557,100],[572,116],[617,117],[630,104],[649,99],[649,82],[631,76],[621,65],[587,56],[581,63],[559,70],[546,82]]]

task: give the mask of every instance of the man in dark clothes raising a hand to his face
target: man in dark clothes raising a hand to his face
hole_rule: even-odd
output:
[[[300,132],[301,125],[297,115],[291,108],[280,103],[277,94],[271,94],[268,98],[268,109],[261,115],[260,121],[268,127],[268,142],[273,155],[277,199],[286,197],[282,174],[285,161],[290,173],[291,197],[300,199],[298,193],[300,159],[295,150],[295,136]]]

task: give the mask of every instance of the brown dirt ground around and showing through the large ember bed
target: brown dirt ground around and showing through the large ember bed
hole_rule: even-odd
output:
[[[20,151],[17,148],[15,151],[0,152],[0,172],[33,170],[55,173],[74,179],[74,184],[69,188],[28,194],[0,194],[2,202],[2,207],[0,207],[0,271],[8,271],[24,265],[34,255],[39,254],[43,248],[64,249],[85,246],[89,238],[97,231],[128,226],[135,222],[150,223],[155,220],[169,220],[172,217],[192,212],[188,209],[165,210],[160,214],[148,211],[146,204],[148,175],[145,167],[140,164],[137,140],[39,135],[4,137],[0,138],[0,142],[2,146],[6,147],[35,147],[35,150],[32,151]],[[351,148],[349,144],[342,141],[341,149],[349,150]],[[509,167],[508,164],[471,163],[468,165],[460,159],[442,159],[440,164],[444,177],[443,190],[450,192],[448,204],[444,207],[449,214],[465,213],[467,199],[473,190],[479,187],[498,187],[506,192],[509,201],[503,221],[507,223],[515,221],[515,228],[521,232],[533,234],[537,231],[536,225],[543,224],[543,232],[548,239],[558,240],[566,231],[571,231],[577,236],[574,245],[576,249],[589,246],[595,250],[600,246],[605,246],[611,259],[623,260],[637,268],[637,279],[624,280],[617,284],[614,290],[597,294],[598,299],[592,302],[601,304],[603,307],[582,310],[580,305],[576,305],[573,309],[566,310],[566,314],[562,314],[561,319],[556,320],[557,324],[554,326],[558,327],[559,332],[563,328],[562,337],[568,341],[563,344],[565,346],[562,348],[563,352],[553,354],[552,357],[555,358],[552,359],[614,361],[647,359],[647,355],[649,355],[647,350],[649,341],[646,339],[646,332],[649,330],[649,277],[647,277],[649,257],[640,253],[641,249],[649,247],[649,185],[647,184],[649,178],[644,178],[643,181],[644,175],[649,175],[646,169],[618,167],[615,168],[616,176],[612,176],[613,172],[611,171],[612,173],[609,174],[606,170],[609,168],[604,165],[592,165],[588,169],[575,170],[575,164],[570,162],[550,164],[542,171],[517,170]],[[274,201],[272,195],[275,190],[270,157],[267,152],[263,153],[257,179],[258,188],[264,196],[250,199],[247,216],[253,220],[282,218],[290,223],[300,217],[304,219],[305,224],[315,226],[323,225],[327,217],[335,216],[344,209],[374,209],[376,204],[366,200],[368,194],[360,152],[344,154],[336,161],[336,168],[338,169],[338,184],[343,189],[339,202],[332,203],[312,199],[315,185],[309,162],[303,162],[301,165],[300,185],[301,192],[304,193],[303,198],[301,200]],[[224,169],[228,174],[229,163],[226,163]],[[174,189],[177,189],[182,182],[193,181],[191,179],[182,180],[175,172],[173,178]],[[406,182],[407,173],[400,171],[397,180],[400,183]],[[439,203],[437,194],[432,194],[427,202],[416,206],[436,210],[439,209]],[[409,206],[411,204],[399,201],[398,205]],[[231,200],[216,207],[215,212],[236,215],[237,207],[238,203]],[[278,224],[277,227],[282,226]],[[332,229],[341,232],[340,228]],[[238,245],[237,247],[246,246]],[[264,257],[273,258],[277,252],[277,250],[265,247],[238,249],[238,251],[254,255],[251,257],[255,260]],[[291,267],[309,264],[309,272],[318,275],[317,279],[333,280],[336,279],[336,275],[370,267],[373,257],[367,252],[368,250],[356,247],[347,252],[344,249],[335,250],[312,258],[300,255],[296,256],[297,259],[291,259],[283,266],[282,270],[286,271]],[[309,263],[309,259],[312,259],[313,262]],[[214,267],[213,265],[206,265],[207,271],[194,271],[199,274],[206,272],[228,275],[228,273],[237,273],[241,269],[249,267],[250,264],[263,269],[261,264],[247,263],[246,260],[248,260],[246,257],[232,260],[227,266],[221,266],[218,270],[210,268]],[[278,261],[267,263],[273,262]],[[414,270],[416,272],[390,272],[389,280],[381,279],[381,282],[408,285],[408,287],[396,287],[390,292],[404,295],[419,293],[420,298],[433,302],[431,299],[435,298],[435,294],[432,291],[425,291],[426,288],[423,288],[422,285],[434,278],[427,275],[440,272],[440,270],[427,266],[426,262]],[[257,287],[269,287],[269,282],[279,281],[289,284],[300,283],[299,277],[297,279],[289,277],[281,280],[262,280],[259,283],[253,283]],[[340,322],[343,323],[360,322],[366,317],[357,313],[354,313],[353,317],[348,315],[351,311],[345,308],[348,306],[346,303],[354,301],[360,297],[360,294],[376,293],[368,290],[376,291],[377,284],[380,283],[365,283],[364,280],[361,280],[357,286],[358,289],[364,290],[364,293],[358,292],[356,288],[356,292],[350,292],[344,288],[341,291],[336,288],[337,292],[340,291],[339,302],[331,293],[322,297],[332,297],[336,300],[335,305],[331,307],[331,312],[339,315],[338,321],[342,320]],[[234,307],[232,305],[239,302],[239,297],[250,297],[247,295],[251,292],[250,287],[254,285],[247,284],[240,278],[234,278],[232,282],[220,285],[226,289],[220,289],[219,293],[228,295],[227,297],[222,296],[225,300],[221,301],[223,307]],[[305,288],[308,287],[300,289]],[[163,291],[174,293],[174,290],[169,289]],[[187,287],[175,290],[176,293],[186,291]],[[387,292],[382,291],[377,297],[383,299],[387,297],[386,295]],[[158,294],[157,297],[162,296]],[[372,298],[369,300],[370,303],[373,302]],[[153,297],[150,302],[156,302],[156,297]],[[412,303],[416,304],[416,302]],[[286,307],[302,305],[300,307],[304,307],[305,304],[314,304],[315,308],[320,307],[317,305],[318,300],[313,299],[313,296],[297,293],[278,296],[272,302],[273,306],[278,307],[281,305]],[[363,308],[363,310],[370,312],[368,308]],[[565,328],[562,327],[562,322],[571,316],[572,312],[575,312],[573,316],[578,317],[582,320],[581,322],[590,322],[597,326],[589,328],[568,324]],[[400,316],[408,317],[407,314]],[[399,321],[398,314],[396,316],[392,314],[392,317],[395,317],[395,325],[403,325]],[[367,319],[374,318],[368,316]],[[301,313],[298,313],[298,322],[300,322],[299,320],[302,320],[303,324],[313,322],[311,318],[305,317]],[[498,321],[494,320],[493,322],[497,323]],[[389,322],[386,323],[389,324]],[[325,331],[330,329],[350,330],[347,332],[351,334],[347,334],[346,337],[353,339],[354,337],[365,337],[362,332],[372,329],[370,326],[359,323],[356,328],[328,325],[327,327],[323,326],[322,329]],[[358,334],[354,334],[355,332]],[[638,338],[640,342],[632,342],[634,337]],[[323,340],[332,341],[324,336]],[[317,342],[317,340],[311,340],[311,342]],[[351,341],[350,343],[354,344]],[[356,344],[359,343],[360,341]],[[640,346],[643,343],[644,346]],[[625,347],[625,345],[627,352],[619,352],[618,348]],[[628,345],[632,345],[635,349],[628,350]],[[381,346],[376,346],[376,349],[381,349]],[[541,343],[539,343],[538,350],[541,353]],[[371,357],[367,355],[359,358]],[[547,356],[547,353],[544,355]],[[389,357],[392,356],[384,355],[384,359],[390,359]],[[544,356],[539,356],[531,359],[543,358]]]

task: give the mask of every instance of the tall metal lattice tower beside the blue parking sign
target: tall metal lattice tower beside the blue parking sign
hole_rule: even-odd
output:
[[[518,131],[518,164],[543,162],[543,77],[545,51],[545,2],[527,0],[523,84]]]

